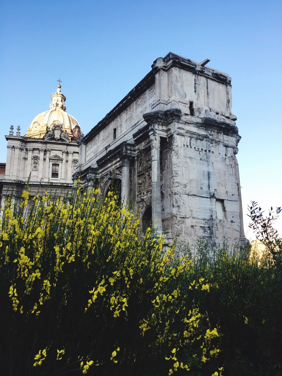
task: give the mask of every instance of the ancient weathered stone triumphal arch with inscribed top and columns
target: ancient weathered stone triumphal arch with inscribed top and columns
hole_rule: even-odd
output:
[[[168,240],[244,239],[231,79],[174,53],[79,139],[83,184],[114,183],[132,201],[141,230]]]

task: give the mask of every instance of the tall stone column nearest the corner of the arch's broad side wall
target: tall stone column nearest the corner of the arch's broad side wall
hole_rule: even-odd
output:
[[[162,231],[162,202],[161,202],[161,168],[160,168],[160,136],[150,134],[152,156],[152,222],[153,227]]]

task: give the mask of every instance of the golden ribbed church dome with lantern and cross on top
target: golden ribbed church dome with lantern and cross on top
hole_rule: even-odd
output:
[[[80,125],[76,118],[65,111],[66,97],[61,93],[61,85],[58,85],[56,93],[51,96],[50,109],[37,115],[27,129],[25,136],[43,138],[54,126],[60,126],[68,134],[71,141],[83,136]]]

